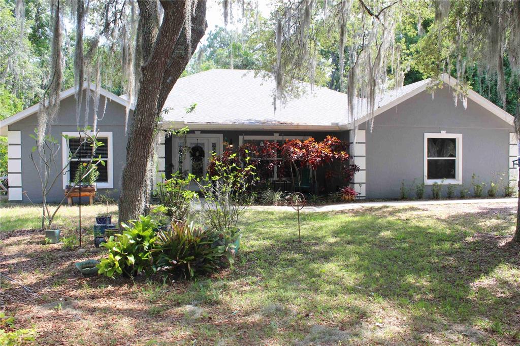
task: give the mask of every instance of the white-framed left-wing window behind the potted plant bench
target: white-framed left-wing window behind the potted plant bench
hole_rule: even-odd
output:
[[[70,154],[75,153],[74,157],[72,157],[69,168],[63,176],[63,189],[69,184],[75,177],[76,171],[79,169],[79,166],[82,162],[90,161],[90,152],[92,147],[90,144],[83,143],[81,147],[81,155],[80,152],[76,150],[80,147],[80,138],[78,132],[63,132],[63,135],[69,136],[69,143],[67,143],[67,139],[62,139],[62,156],[63,156],[63,167],[67,165],[68,157]],[[113,157],[112,157],[112,132],[99,132],[97,140],[103,145],[100,145],[96,148],[96,152],[94,153],[94,157],[100,157],[105,165],[98,164],[97,169],[99,171],[99,177],[97,179],[97,187],[100,189],[112,189],[113,188],[113,178],[112,178],[112,167],[113,167]]]

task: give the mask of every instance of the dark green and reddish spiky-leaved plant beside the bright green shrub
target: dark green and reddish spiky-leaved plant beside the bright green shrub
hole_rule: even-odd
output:
[[[213,244],[217,233],[194,227],[193,223],[174,223],[169,231],[160,231],[157,236],[158,266],[176,274],[192,278],[212,273],[220,267],[222,252]]]

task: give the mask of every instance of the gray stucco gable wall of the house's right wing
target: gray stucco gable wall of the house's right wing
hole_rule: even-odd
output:
[[[471,177],[489,186],[503,178],[507,183],[510,167],[510,132],[513,126],[480,105],[467,100],[455,107],[451,90],[445,85],[434,97],[426,91],[413,96],[374,118],[372,131],[366,129],[367,198],[397,198],[401,181],[410,187],[424,181],[424,134],[446,131],[462,134],[462,184],[471,189]],[[516,153],[516,152],[515,152]],[[458,189],[456,189],[458,191]],[[486,189],[487,190],[487,189]],[[414,191],[410,191],[414,196]],[[443,188],[443,195],[446,188]],[[425,198],[431,197],[426,185]]]

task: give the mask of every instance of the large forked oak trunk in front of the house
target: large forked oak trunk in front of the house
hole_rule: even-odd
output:
[[[159,27],[157,2],[139,1],[139,37],[144,64],[137,103],[129,126],[126,165],[119,198],[119,220],[136,219],[145,208],[146,177],[161,111],[206,30],[206,2],[197,2],[191,17],[191,49],[184,28],[185,2],[161,1],[164,17]]]

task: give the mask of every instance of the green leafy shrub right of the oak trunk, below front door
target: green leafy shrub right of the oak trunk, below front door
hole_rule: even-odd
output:
[[[186,221],[190,213],[191,203],[198,197],[197,192],[189,190],[193,178],[193,175],[183,178],[179,172],[174,172],[172,178],[157,183],[154,195],[159,198],[159,202],[165,207],[165,214],[174,222]]]

